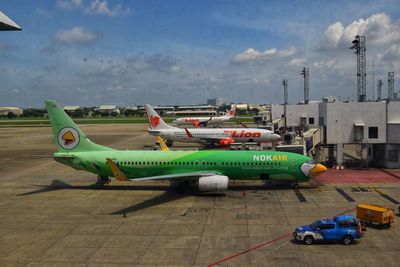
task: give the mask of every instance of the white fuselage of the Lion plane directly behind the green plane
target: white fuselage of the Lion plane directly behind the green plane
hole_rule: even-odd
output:
[[[281,138],[272,131],[254,128],[149,129],[149,133],[167,140],[189,142],[210,142],[220,139],[233,139],[235,142],[272,142]]]

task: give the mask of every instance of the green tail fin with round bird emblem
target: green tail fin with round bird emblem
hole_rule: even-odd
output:
[[[58,152],[112,150],[89,140],[55,100],[45,101]]]

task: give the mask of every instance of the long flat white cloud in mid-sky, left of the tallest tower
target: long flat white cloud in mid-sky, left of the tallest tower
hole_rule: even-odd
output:
[[[258,60],[266,60],[272,58],[284,58],[296,54],[298,50],[295,47],[278,50],[276,48],[268,49],[260,52],[254,48],[248,48],[245,51],[237,54],[233,60],[235,64],[244,64]]]

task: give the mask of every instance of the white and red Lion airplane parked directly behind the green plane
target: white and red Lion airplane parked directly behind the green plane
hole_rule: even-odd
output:
[[[159,135],[167,140],[168,145],[173,141],[197,142],[229,146],[241,142],[274,142],[281,139],[272,131],[258,128],[191,128],[181,129],[164,122],[152,106],[146,105],[146,115],[149,120],[149,133]]]

